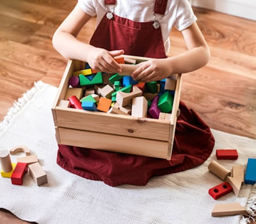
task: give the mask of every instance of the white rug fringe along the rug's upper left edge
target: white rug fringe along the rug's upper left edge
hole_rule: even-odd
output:
[[[5,127],[10,124],[12,118],[15,114],[17,114],[20,109],[22,109],[29,100],[33,98],[38,90],[41,90],[45,86],[49,86],[49,84],[43,83],[42,81],[38,81],[34,83],[34,87],[28,90],[26,93],[23,93],[22,97],[20,97],[17,101],[13,103],[12,108],[8,109],[8,113],[4,116],[3,122],[0,123],[0,133],[5,129]]]

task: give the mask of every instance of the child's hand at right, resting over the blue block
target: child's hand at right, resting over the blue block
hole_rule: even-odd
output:
[[[172,75],[172,66],[163,59],[142,62],[140,67],[131,74],[134,80],[142,81],[143,83],[165,79],[170,75]]]

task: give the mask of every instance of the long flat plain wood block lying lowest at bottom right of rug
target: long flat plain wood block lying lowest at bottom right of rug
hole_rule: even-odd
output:
[[[237,214],[245,214],[246,209],[238,203],[218,204],[212,209],[212,216],[235,216]]]

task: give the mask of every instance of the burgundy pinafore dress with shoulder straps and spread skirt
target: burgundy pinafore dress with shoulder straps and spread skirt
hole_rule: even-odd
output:
[[[105,0],[105,4],[115,5],[116,2]],[[167,0],[156,0],[154,15],[164,15],[166,4]],[[159,22],[134,22],[109,11],[100,21],[90,44],[108,51],[124,49],[125,54],[133,56],[166,58]],[[86,179],[102,180],[110,186],[145,185],[150,177],[198,166],[211,155],[214,137],[193,109],[188,109],[184,102],[180,102],[179,108],[170,161],[59,145],[57,163],[68,172]]]

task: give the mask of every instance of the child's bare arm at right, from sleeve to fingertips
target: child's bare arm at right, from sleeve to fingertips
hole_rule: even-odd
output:
[[[210,59],[210,51],[196,22],[181,33],[188,51],[170,58],[143,62],[132,73],[132,77],[135,80],[150,82],[164,79],[172,74],[192,72],[204,67]]]

